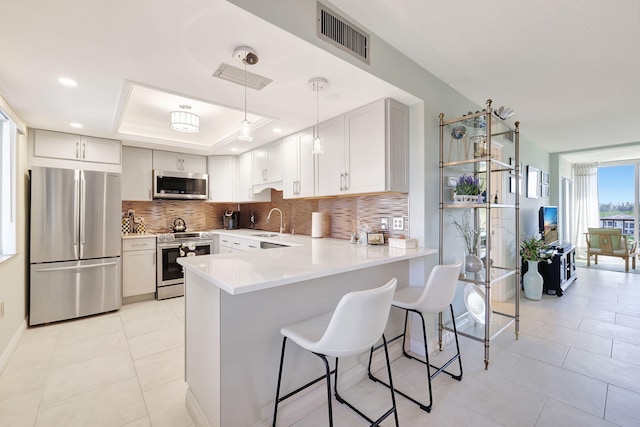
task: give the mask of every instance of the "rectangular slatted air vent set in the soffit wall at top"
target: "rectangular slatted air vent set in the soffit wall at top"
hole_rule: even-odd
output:
[[[318,37],[369,63],[369,34],[318,2]]]

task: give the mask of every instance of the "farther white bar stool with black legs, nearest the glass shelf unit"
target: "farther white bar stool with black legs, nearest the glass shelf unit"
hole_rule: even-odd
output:
[[[444,372],[450,375],[455,380],[462,380],[462,360],[460,359],[460,345],[458,343],[458,331],[456,329],[456,319],[453,314],[453,306],[451,303],[453,302],[453,298],[456,293],[456,284],[458,282],[458,276],[460,274],[460,267],[462,265],[461,261],[458,261],[455,264],[449,265],[437,265],[433,268],[431,273],[429,274],[429,278],[427,279],[427,283],[424,288],[419,288],[417,286],[409,286],[398,290],[393,296],[392,306],[401,308],[405,310],[405,318],[404,318],[404,330],[403,332],[389,340],[389,344],[393,341],[402,338],[402,354],[404,357],[407,357],[412,360],[416,360],[427,367],[427,383],[428,383],[428,391],[429,391],[429,404],[426,405],[417,399],[403,393],[402,391],[395,389],[396,393],[406,397],[412,402],[416,403],[420,406],[421,409],[431,412],[431,406],[433,405],[433,396],[431,394],[431,380],[434,379],[439,373]],[[456,339],[456,350],[457,353],[451,357],[446,363],[442,366],[434,366],[429,363],[429,349],[427,348],[427,332],[426,326],[424,323],[424,313],[432,313],[438,314],[444,311],[447,306],[449,306],[449,310],[451,311],[451,322],[453,323],[453,334]],[[425,360],[418,359],[417,357],[409,354],[406,350],[406,336],[407,336],[407,324],[409,319],[409,312],[416,313],[420,316],[420,320],[422,321],[422,339],[424,340],[424,354]],[[380,380],[373,376],[371,372],[371,358],[373,357],[374,351],[378,350],[380,346],[372,348],[371,353],[369,355],[369,378],[373,381],[378,381],[389,388],[393,388],[393,384],[389,382],[389,384]],[[458,360],[458,364],[460,367],[460,374],[456,375],[451,372],[446,371],[445,369],[453,363],[455,360]],[[431,373],[431,368],[435,369],[435,372]]]

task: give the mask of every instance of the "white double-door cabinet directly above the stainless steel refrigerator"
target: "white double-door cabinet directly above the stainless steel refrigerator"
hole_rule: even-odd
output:
[[[120,141],[42,129],[34,129],[32,135],[31,166],[83,168],[84,162],[120,165]]]

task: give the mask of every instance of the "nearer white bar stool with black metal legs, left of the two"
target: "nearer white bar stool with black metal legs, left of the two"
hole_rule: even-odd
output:
[[[391,364],[387,351],[387,342],[384,337],[384,328],[391,311],[391,299],[396,289],[397,280],[391,279],[384,286],[365,291],[350,292],[344,295],[333,313],[315,317],[294,325],[285,326],[280,330],[284,336],[282,339],[282,354],[280,356],[280,371],[278,373],[278,386],[276,388],[276,402],[273,411],[273,426],[276,425],[278,414],[278,404],[307,387],[321,381],[327,380],[327,400],[329,406],[329,425],[333,426],[333,412],[331,409],[331,374],[335,372],[334,393],[336,400],[347,405],[362,418],[377,426],[392,413],[395,416],[396,427],[398,426],[398,412],[396,410],[396,399],[391,378]],[[387,360],[387,371],[389,383],[391,384],[392,407],[380,418],[373,421],[355,406],[344,400],[338,394],[338,360],[340,357],[353,356],[373,346],[382,337],[385,357]],[[305,350],[308,350],[320,357],[324,362],[325,374],[315,380],[303,385],[291,393],[280,397],[280,383],[282,380],[282,368],[284,364],[284,352],[287,339],[291,339]],[[335,369],[331,371],[327,357],[335,357]]]

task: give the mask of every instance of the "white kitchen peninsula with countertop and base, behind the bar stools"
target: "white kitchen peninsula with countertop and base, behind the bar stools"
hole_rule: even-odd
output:
[[[248,230],[238,234],[252,237]],[[186,278],[186,406],[198,426],[240,427],[270,420],[282,326],[331,311],[345,293],[381,286],[392,277],[406,286],[409,261],[437,254],[436,249],[353,245],[308,236],[253,238],[295,246],[178,261]],[[402,321],[392,313],[388,335],[400,330]],[[287,352],[283,390],[323,372],[316,357],[298,350],[290,346]],[[342,361],[341,383],[365,378],[367,361],[364,354]],[[318,404],[326,399],[321,393]],[[279,413],[295,417],[296,408],[307,411],[315,404],[304,396]]]

